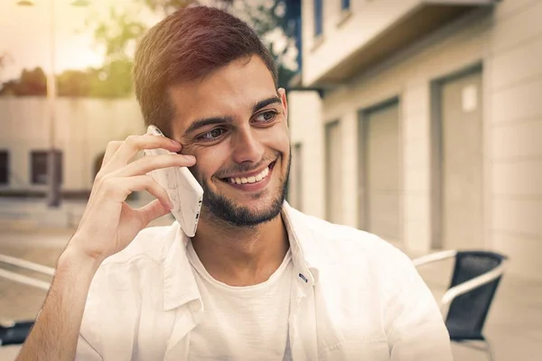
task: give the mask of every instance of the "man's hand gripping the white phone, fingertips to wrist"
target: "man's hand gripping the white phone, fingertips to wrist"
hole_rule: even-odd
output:
[[[164,136],[145,134],[131,135],[124,142],[107,145],[89,203],[69,247],[101,262],[126,248],[149,222],[173,208],[164,188],[146,173],[160,168],[192,166],[195,158],[164,154],[130,162],[139,151],[156,148],[179,152],[181,144]],[[128,206],[126,197],[141,190],[147,190],[156,199],[143,208]]]

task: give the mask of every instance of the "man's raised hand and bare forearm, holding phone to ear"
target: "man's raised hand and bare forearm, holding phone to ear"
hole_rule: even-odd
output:
[[[179,152],[181,144],[154,135],[129,136],[124,142],[108,144],[83,218],[59,258],[41,313],[17,360],[64,361],[75,357],[90,283],[99,264],[126,248],[150,221],[172,208],[164,188],[146,173],[195,163],[193,157],[179,154],[130,162],[137,152],[156,148]],[[148,190],[156,199],[143,208],[130,208],[126,197],[136,190]]]

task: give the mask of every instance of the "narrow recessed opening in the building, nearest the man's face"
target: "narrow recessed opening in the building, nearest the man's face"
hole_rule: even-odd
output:
[[[339,122],[325,125],[325,203],[326,219],[342,221],[341,127]]]

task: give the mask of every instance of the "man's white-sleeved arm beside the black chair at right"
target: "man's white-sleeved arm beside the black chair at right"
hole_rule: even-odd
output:
[[[433,294],[414,264],[401,254],[387,305],[392,361],[452,361],[450,336]]]

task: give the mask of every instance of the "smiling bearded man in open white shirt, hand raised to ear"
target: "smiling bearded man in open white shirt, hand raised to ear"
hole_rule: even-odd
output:
[[[139,44],[134,77],[145,122],[172,140],[109,143],[19,359],[451,360],[406,255],[285,203],[285,90],[246,23],[172,14]],[[179,154],[130,162],[154,148]],[[144,229],[171,209],[146,173],[173,166],[205,190],[192,239],[177,223]],[[156,200],[130,208],[136,190]]]

